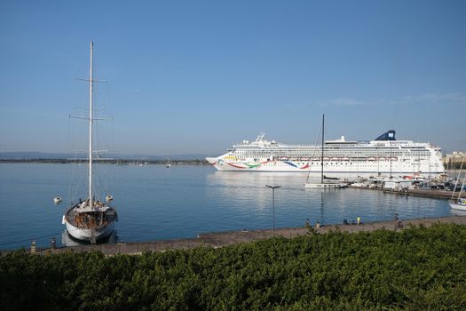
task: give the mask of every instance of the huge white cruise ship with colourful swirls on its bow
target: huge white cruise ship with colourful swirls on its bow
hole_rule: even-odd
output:
[[[320,172],[321,146],[285,145],[264,139],[243,140],[223,156],[208,157],[219,171]],[[444,173],[440,148],[430,143],[396,140],[395,131],[375,140],[327,140],[323,152],[326,173],[438,175]]]

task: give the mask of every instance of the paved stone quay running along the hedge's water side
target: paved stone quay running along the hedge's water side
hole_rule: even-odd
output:
[[[452,216],[444,218],[433,219],[411,219],[404,220],[404,227],[420,226],[430,227],[435,223],[450,223],[457,225],[466,225],[466,216]],[[312,227],[316,234],[325,234],[331,230],[340,230],[342,232],[357,233],[360,231],[371,232],[378,229],[387,230],[402,230],[395,220],[391,221],[377,221],[369,223],[361,223],[359,225],[326,225],[323,227]],[[276,228],[275,236],[293,238],[299,235],[308,235],[310,231],[307,227],[284,227]],[[57,249],[37,249],[36,254],[49,254],[59,253],[61,251],[102,251],[107,255],[115,254],[132,254],[138,255],[143,251],[170,251],[170,250],[187,250],[196,247],[223,247],[233,245],[236,243],[249,243],[269,239],[273,237],[272,229],[264,230],[241,230],[241,231],[227,231],[200,234],[197,238],[186,238],[177,240],[161,240],[151,242],[120,242],[120,243],[107,243],[107,244],[87,244],[73,247],[61,247]],[[2,256],[6,255],[9,251],[2,251]]]

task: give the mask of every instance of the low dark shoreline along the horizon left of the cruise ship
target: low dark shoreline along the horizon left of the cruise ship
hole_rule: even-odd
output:
[[[57,158],[57,159],[46,159],[46,158],[36,158],[36,159],[0,159],[0,163],[87,163],[87,159],[66,159],[66,158]],[[167,164],[167,160],[138,160],[138,159],[93,159],[95,163],[107,163],[107,164],[117,164],[117,165],[127,165],[127,164]],[[192,164],[192,165],[204,165],[209,164],[207,160],[200,159],[186,159],[186,160],[176,160],[170,161],[172,165],[183,165],[183,164]]]

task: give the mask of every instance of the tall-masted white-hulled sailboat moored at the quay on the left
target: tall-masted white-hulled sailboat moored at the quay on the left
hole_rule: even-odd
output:
[[[72,204],[65,212],[62,224],[66,225],[67,233],[77,240],[96,243],[98,240],[106,238],[115,230],[115,222],[118,216],[115,208],[110,206],[113,201],[112,195],[107,195],[105,201],[99,200],[92,189],[92,83],[96,80],[92,78],[92,51],[93,43],[91,42],[91,68],[89,77],[89,171],[88,171],[88,198],[80,200],[79,203]]]

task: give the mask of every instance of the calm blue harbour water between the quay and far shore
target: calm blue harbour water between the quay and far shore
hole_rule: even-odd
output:
[[[0,249],[67,243],[63,212],[85,195],[86,165],[0,164]],[[446,200],[383,194],[361,189],[304,190],[306,174],[216,171],[207,165],[99,165],[96,184],[111,194],[119,214],[117,239],[124,242],[195,237],[200,233],[451,215]],[[318,176],[315,177],[319,179]],[[106,189],[109,189],[106,191]],[[63,197],[54,205],[55,196]]]

